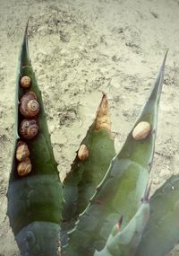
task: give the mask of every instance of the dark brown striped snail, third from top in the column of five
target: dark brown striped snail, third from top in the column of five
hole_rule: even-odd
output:
[[[19,132],[21,137],[32,139],[38,135],[38,122],[36,119],[23,119],[20,124]]]

